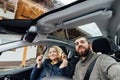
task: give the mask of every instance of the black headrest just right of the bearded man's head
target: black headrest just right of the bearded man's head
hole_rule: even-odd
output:
[[[111,51],[111,45],[108,39],[99,38],[92,42],[92,48],[94,52],[102,52],[103,54],[107,54]]]

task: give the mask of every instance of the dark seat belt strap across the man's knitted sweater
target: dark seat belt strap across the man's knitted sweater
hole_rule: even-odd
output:
[[[83,80],[89,80],[90,74],[91,74],[91,72],[92,72],[92,70],[93,70],[93,67],[94,67],[94,65],[95,65],[95,62],[96,62],[97,58],[98,58],[98,56],[97,56],[97,57],[91,62],[91,64],[89,65],[89,67],[88,67],[88,69],[87,69],[87,71],[86,71],[86,73],[85,73],[85,77],[84,77]]]

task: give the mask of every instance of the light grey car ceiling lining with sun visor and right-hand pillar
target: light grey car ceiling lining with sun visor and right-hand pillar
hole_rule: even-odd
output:
[[[36,26],[39,33],[49,34],[61,28],[73,28],[95,22],[103,37],[110,39],[112,46],[116,47],[114,37],[120,23],[119,4],[119,0],[77,1],[40,17]]]

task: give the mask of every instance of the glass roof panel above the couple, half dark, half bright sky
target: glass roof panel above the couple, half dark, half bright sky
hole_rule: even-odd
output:
[[[98,37],[102,36],[102,33],[96,23],[89,23],[77,28],[71,29],[60,29],[49,35],[49,38],[60,39],[60,40],[74,40],[80,36],[87,37]]]

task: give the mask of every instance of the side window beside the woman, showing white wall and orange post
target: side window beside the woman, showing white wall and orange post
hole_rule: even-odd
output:
[[[27,46],[5,51],[0,55],[0,69],[18,69],[34,65],[36,57],[43,54],[44,45]]]

